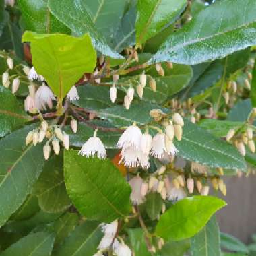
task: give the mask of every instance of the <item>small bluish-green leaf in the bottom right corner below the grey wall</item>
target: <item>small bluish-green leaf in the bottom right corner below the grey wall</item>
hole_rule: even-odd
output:
[[[247,246],[230,234],[220,233],[220,243],[223,249],[238,253],[249,253]]]

